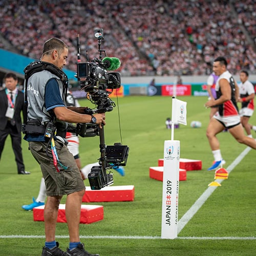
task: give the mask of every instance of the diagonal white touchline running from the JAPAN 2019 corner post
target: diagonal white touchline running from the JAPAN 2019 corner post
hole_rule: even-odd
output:
[[[228,173],[231,173],[232,169],[236,167],[242,159],[248,154],[251,147],[246,147],[245,150],[226,168]],[[215,181],[221,183],[223,179],[216,179]],[[204,193],[198,198],[198,200],[190,207],[190,209],[182,216],[178,221],[178,234],[183,229],[183,227],[190,221],[190,219],[196,214],[196,212],[201,208],[204,202],[209,198],[209,196],[214,193],[217,186],[208,187]]]

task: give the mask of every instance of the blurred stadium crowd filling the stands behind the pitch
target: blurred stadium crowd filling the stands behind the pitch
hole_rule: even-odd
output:
[[[209,74],[221,55],[232,74],[256,73],[254,0],[0,0],[0,8],[0,33],[14,49],[39,59],[44,41],[59,37],[73,71],[77,34],[86,61],[86,50],[99,57],[93,29],[103,28],[101,49],[120,58],[124,76]]]

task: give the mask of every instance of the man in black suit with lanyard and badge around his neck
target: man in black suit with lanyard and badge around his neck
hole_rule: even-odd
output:
[[[24,94],[17,87],[17,76],[14,73],[5,75],[6,88],[0,91],[0,159],[4,149],[5,140],[10,134],[12,149],[17,163],[18,174],[30,174],[26,172],[22,156],[22,118]]]

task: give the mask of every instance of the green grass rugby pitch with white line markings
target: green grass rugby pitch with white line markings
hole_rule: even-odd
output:
[[[180,125],[174,131],[174,139],[180,141],[180,157],[202,160],[203,166],[202,170],[187,172],[187,180],[180,182],[180,219],[214,181],[214,172],[206,170],[213,160],[205,136],[209,121],[209,110],[204,108],[207,97],[177,98],[187,102],[187,126]],[[117,100],[113,100],[117,104]],[[89,104],[85,99],[79,103]],[[251,150],[232,170],[228,179],[184,226],[177,239],[160,239],[162,182],[149,177],[149,167],[157,166],[158,159],[163,158],[164,141],[171,139],[165,119],[171,117],[172,98],[119,98],[118,108],[106,113],[107,145],[121,142],[118,109],[122,144],[130,147],[130,153],[125,176],[114,171],[114,185],[134,185],[135,200],[92,203],[104,206],[104,220],[80,225],[80,235],[84,237],[81,241],[86,249],[101,256],[255,255],[256,152]],[[191,128],[189,124],[194,120],[202,122],[202,127]],[[255,114],[250,121],[256,124]],[[226,161],[224,167],[227,167],[246,146],[239,144],[229,133],[223,132],[218,138]],[[27,142],[23,140],[22,146],[26,170],[31,175],[17,175],[10,137],[0,162],[0,255],[3,256],[41,255],[45,242],[44,222],[34,222],[33,212],[21,208],[37,196],[41,179],[39,166],[29,152]],[[80,138],[82,166],[97,161],[99,156],[98,137]],[[85,183],[89,185],[88,181]],[[61,203],[65,200],[66,197]],[[60,248],[65,250],[69,243],[66,223],[57,223],[56,236]]]

